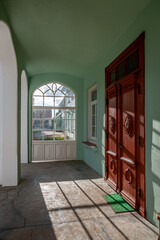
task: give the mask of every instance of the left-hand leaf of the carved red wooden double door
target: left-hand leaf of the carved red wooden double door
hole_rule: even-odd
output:
[[[109,184],[117,189],[117,91],[116,86],[111,87],[107,91],[107,172]]]

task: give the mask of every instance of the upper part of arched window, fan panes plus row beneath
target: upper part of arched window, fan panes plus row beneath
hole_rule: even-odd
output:
[[[75,94],[59,83],[49,83],[33,93],[34,107],[69,108],[75,107]]]

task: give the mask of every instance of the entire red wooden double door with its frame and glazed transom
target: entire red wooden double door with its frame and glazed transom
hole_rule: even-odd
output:
[[[144,34],[106,68],[106,179],[145,216]]]

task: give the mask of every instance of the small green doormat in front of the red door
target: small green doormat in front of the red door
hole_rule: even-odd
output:
[[[135,211],[119,194],[105,195],[104,199],[115,213]]]

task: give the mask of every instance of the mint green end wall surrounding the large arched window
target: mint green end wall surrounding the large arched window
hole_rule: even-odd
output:
[[[33,91],[41,85],[44,85],[49,82],[57,82],[60,84],[64,84],[67,87],[74,90],[76,94],[76,104],[77,104],[77,121],[76,121],[76,159],[82,160],[83,159],[83,79],[77,78],[74,76],[70,76],[67,74],[56,74],[56,73],[49,73],[49,74],[41,74],[35,77],[30,78],[29,80],[29,162],[31,162],[31,133],[32,133],[32,93]]]

